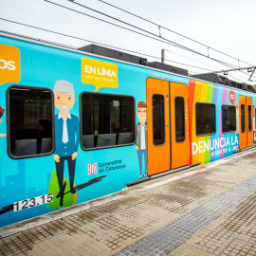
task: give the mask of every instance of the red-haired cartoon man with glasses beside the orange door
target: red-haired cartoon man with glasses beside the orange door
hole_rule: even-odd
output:
[[[143,177],[147,175],[148,170],[148,154],[147,154],[147,104],[144,101],[137,103],[137,118],[140,122],[137,123],[137,157],[139,162],[140,175]],[[144,155],[145,173],[142,172],[142,158]],[[142,175],[143,174],[143,175]]]

